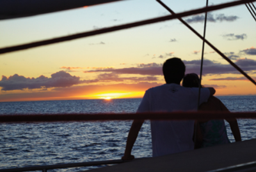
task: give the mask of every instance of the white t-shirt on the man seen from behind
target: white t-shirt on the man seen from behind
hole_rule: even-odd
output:
[[[182,87],[176,83],[148,89],[138,112],[197,110],[198,88]],[[200,104],[207,102],[210,90],[200,90]],[[194,149],[194,120],[152,120],[153,157]]]

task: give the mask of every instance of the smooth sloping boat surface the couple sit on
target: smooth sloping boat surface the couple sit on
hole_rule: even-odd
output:
[[[115,171],[211,171],[246,162],[256,161],[256,139],[229,143],[215,147],[200,148],[179,154],[164,155],[148,159],[135,159],[131,162],[104,168],[88,170],[90,172]]]

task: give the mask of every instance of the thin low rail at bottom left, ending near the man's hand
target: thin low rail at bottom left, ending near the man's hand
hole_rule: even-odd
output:
[[[99,166],[106,164],[120,164],[123,162],[122,159],[108,160],[108,161],[93,161],[93,162],[78,162],[78,163],[69,163],[69,164],[54,164],[47,166],[29,166],[25,168],[9,168],[9,169],[0,169],[0,172],[18,172],[18,171],[36,171],[36,170],[45,170],[47,169],[58,169],[58,168],[76,168],[76,167],[86,167],[86,166]]]

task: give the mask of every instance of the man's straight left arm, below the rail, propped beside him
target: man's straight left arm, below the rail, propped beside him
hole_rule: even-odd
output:
[[[138,133],[140,131],[140,128],[143,122],[144,120],[134,120],[132,122],[132,126],[127,137],[125,152],[124,152],[124,156],[122,157],[122,160],[134,159],[134,155],[131,155],[132,147],[136,141],[136,138],[138,136]]]

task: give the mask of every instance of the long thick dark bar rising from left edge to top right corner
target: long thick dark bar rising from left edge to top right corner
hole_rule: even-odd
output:
[[[0,48],[0,54],[5,54],[8,52],[15,52],[18,50],[25,50],[28,48],[33,48],[33,47],[40,47],[43,45],[49,45],[52,43],[60,43],[62,41],[70,41],[72,39],[78,39],[78,38],[84,38],[84,37],[88,37],[88,36],[93,36],[93,35],[97,35],[97,34],[103,34],[103,33],[107,33],[107,32],[113,32],[113,31],[119,31],[122,29],[128,29],[128,28],[132,28],[132,27],[138,27],[141,25],[147,25],[147,24],[154,24],[157,22],[163,22],[165,20],[172,20],[175,18],[180,18],[180,17],[187,17],[189,15],[195,15],[198,13],[205,13],[206,11],[214,11],[214,10],[220,10],[223,8],[227,8],[227,7],[231,7],[231,6],[236,6],[239,4],[244,4],[244,3],[250,3],[250,2],[254,2],[256,0],[241,0],[241,1],[234,1],[231,3],[224,3],[224,4],[218,4],[215,6],[208,6],[205,8],[198,8],[196,10],[191,10],[191,11],[185,11],[182,13],[177,13],[175,15],[168,15],[165,17],[157,17],[157,18],[152,18],[149,20],[143,20],[140,22],[133,22],[131,24],[124,24],[124,25],[118,25],[118,26],[114,26],[114,27],[108,27],[108,28],[104,28],[104,29],[99,29],[96,31],[89,31],[89,32],[82,32],[79,34],[72,34],[70,36],[63,36],[60,38],[54,38],[54,39],[47,39],[44,41],[36,41],[33,43],[27,43],[24,45],[17,45],[17,46],[13,46],[13,47],[6,47],[6,48]]]

